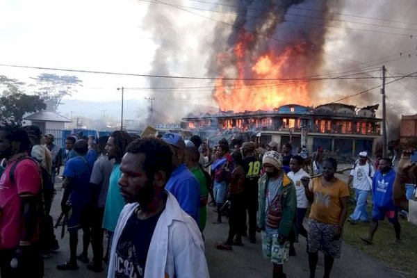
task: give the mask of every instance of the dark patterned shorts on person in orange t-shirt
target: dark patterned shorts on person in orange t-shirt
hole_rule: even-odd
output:
[[[342,239],[334,239],[334,230],[336,225],[318,222],[313,218],[309,218],[308,231],[308,252],[316,253],[323,252],[323,254],[332,256],[338,259],[341,256]]]

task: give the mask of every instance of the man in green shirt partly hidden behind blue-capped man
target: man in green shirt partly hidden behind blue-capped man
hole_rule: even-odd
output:
[[[197,147],[193,144],[193,142],[188,141],[186,144],[186,159],[185,163],[190,170],[197,178],[199,185],[200,185],[200,207],[199,207],[199,223],[198,227],[200,231],[204,231],[206,227],[206,218],[207,218],[207,211],[206,211],[206,204],[208,199],[208,190],[206,186],[206,177],[198,164],[199,161],[199,152]]]

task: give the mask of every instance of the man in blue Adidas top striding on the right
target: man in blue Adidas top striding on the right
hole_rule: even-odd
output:
[[[395,242],[400,243],[401,226],[398,222],[398,208],[394,205],[393,184],[395,180],[395,171],[392,168],[389,158],[382,158],[379,161],[379,171],[373,177],[372,186],[372,222],[369,227],[368,238],[361,238],[368,245],[372,244],[373,236],[378,228],[378,221],[388,218],[395,229]]]

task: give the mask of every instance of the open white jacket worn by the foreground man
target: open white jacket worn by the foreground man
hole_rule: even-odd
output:
[[[179,207],[171,193],[167,192],[167,195],[165,210],[156,223],[149,245],[144,277],[210,277],[197,223]],[[137,207],[138,203],[126,204],[120,213],[111,246],[108,278],[115,277],[117,243]]]

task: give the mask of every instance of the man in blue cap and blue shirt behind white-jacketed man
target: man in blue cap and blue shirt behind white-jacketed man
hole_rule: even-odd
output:
[[[199,182],[184,163],[186,143],[177,133],[165,133],[162,140],[172,146],[174,167],[165,188],[177,198],[183,211],[199,223],[200,188]]]

